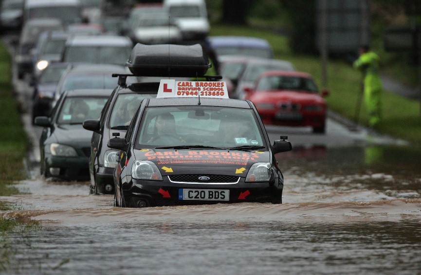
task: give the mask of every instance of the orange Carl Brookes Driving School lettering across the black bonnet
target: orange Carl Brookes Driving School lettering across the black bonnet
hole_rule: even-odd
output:
[[[264,153],[264,152],[259,152]],[[165,165],[161,169],[172,172],[171,164],[210,163],[234,164],[246,166],[249,161],[258,162],[267,157],[266,154],[238,151],[142,151],[145,160],[154,161],[157,165]],[[169,169],[171,171],[169,171]]]

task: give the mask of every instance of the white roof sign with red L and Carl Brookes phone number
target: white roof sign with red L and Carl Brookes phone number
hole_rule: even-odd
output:
[[[224,81],[175,81],[161,79],[157,98],[229,98]]]

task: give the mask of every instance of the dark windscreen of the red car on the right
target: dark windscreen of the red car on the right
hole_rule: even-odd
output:
[[[259,90],[299,90],[317,93],[316,83],[312,79],[291,76],[267,76],[257,83]]]

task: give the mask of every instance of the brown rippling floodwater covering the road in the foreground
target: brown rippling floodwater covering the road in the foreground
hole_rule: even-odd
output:
[[[9,273],[420,274],[420,152],[296,148],[278,154],[283,204],[123,209],[88,182],[33,178],[1,197],[42,228],[12,234]]]

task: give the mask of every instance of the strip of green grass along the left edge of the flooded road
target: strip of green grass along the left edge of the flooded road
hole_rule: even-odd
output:
[[[7,48],[0,42],[0,196],[19,194],[13,183],[25,178],[23,159],[28,151],[28,137],[18,112],[12,90],[11,59]],[[0,211],[17,207],[0,201]],[[9,268],[13,254],[9,234],[39,228],[37,221],[4,218],[0,215],[0,272]]]

